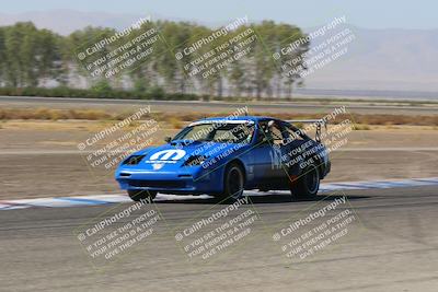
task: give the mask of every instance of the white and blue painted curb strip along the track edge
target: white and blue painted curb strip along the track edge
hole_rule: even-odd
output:
[[[327,183],[321,184],[320,192],[327,192],[342,189],[382,189],[399,187],[417,187],[417,186],[437,186],[438,177],[396,179],[396,180],[369,180],[369,182],[345,182],[345,183]],[[266,196],[274,192],[245,191],[246,196]],[[289,191],[275,191],[278,195],[288,195]],[[177,196],[159,194],[154,201],[176,201],[187,199],[209,199],[208,195],[201,196]],[[93,195],[93,196],[74,196],[74,197],[50,197],[37,199],[21,200],[3,200],[0,201],[0,210],[25,209],[32,207],[79,207],[79,206],[99,206],[106,203],[130,202],[127,195]]]

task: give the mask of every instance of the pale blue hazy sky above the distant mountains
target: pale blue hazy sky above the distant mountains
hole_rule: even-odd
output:
[[[1,13],[72,9],[205,23],[247,15],[304,27],[345,14],[349,23],[368,28],[438,28],[436,0],[0,0],[0,7]]]

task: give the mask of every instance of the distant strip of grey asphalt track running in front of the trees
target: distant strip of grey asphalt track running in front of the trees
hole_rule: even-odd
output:
[[[8,104],[30,104],[30,105],[152,105],[158,108],[160,107],[175,107],[183,108],[186,110],[218,110],[227,108],[235,108],[239,103],[227,103],[227,102],[200,102],[200,101],[141,101],[141,100],[114,100],[114,98],[80,98],[80,97],[37,97],[37,96],[0,96],[0,103],[3,105]],[[242,103],[243,105],[243,103]],[[324,105],[320,103],[253,103],[251,108],[253,110],[300,110],[300,112],[327,112],[335,108],[337,105]],[[397,105],[360,105],[360,104],[348,104],[348,110],[355,113],[392,113],[392,114],[405,114],[405,115],[435,115],[438,110],[437,106],[397,106]]]

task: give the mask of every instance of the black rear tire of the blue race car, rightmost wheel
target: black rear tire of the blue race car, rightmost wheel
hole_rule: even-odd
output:
[[[298,199],[314,199],[320,189],[320,171],[311,164],[291,183],[290,192]]]

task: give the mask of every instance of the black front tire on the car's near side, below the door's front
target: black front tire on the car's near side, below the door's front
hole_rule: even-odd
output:
[[[237,163],[227,166],[223,175],[222,198],[237,200],[243,196],[245,175],[242,167]]]

